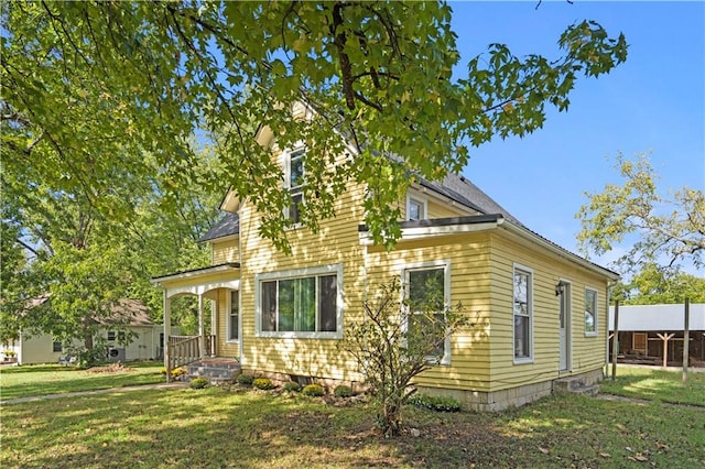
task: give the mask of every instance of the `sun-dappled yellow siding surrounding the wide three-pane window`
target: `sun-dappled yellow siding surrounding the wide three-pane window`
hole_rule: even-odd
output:
[[[346,323],[351,320],[361,310],[360,293],[365,290],[362,247],[358,234],[364,218],[362,195],[361,187],[348,189],[336,203],[336,218],[322,220],[317,233],[306,228],[290,230],[291,255],[260,238],[260,217],[250,204],[243,204],[240,209],[243,368],[359,380],[352,371],[351,359],[338,349],[340,340],[256,337],[254,275],[341,263],[343,316]]]

